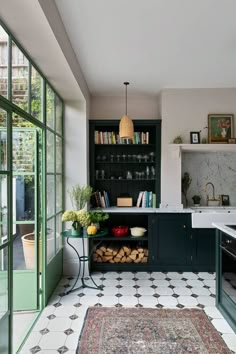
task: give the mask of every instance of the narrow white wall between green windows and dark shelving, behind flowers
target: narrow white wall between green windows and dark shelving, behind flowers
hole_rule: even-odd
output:
[[[66,102],[65,105],[65,209],[73,209],[68,189],[75,184],[88,184],[88,109],[85,101]],[[71,228],[71,223],[68,223]],[[70,243],[81,253],[80,239],[70,239]],[[86,244],[87,249],[87,244]],[[78,257],[75,251],[65,244],[63,273],[77,274]],[[87,273],[87,269],[86,269]]]

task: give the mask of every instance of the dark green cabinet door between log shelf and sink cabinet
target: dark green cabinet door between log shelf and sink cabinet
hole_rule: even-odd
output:
[[[191,215],[165,213],[156,216],[153,262],[160,270],[182,271],[191,266]]]

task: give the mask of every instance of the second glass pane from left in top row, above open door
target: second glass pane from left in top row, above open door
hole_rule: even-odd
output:
[[[12,102],[28,112],[29,62],[12,42]]]

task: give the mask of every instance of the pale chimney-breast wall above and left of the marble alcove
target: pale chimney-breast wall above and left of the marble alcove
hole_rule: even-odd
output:
[[[161,204],[181,206],[181,159],[169,144],[181,135],[189,143],[190,131],[208,125],[209,113],[233,113],[236,89],[168,89],[162,92]],[[201,138],[207,136],[205,129]]]

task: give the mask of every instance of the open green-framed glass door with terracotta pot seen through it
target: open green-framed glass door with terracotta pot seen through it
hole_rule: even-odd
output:
[[[41,256],[37,213],[38,131],[33,124],[14,115],[12,134],[13,308],[36,310]]]

